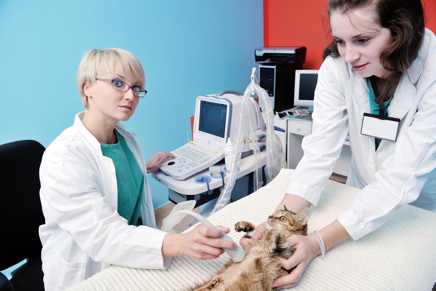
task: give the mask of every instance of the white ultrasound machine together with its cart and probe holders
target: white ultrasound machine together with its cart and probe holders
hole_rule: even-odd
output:
[[[230,137],[235,140],[236,125],[240,107],[241,92],[224,90],[216,94],[198,96],[195,102],[193,140],[171,151],[174,158],[167,159],[160,171],[152,173],[152,178],[169,188],[169,199],[174,203],[195,199],[197,206],[219,195],[225,184],[224,147]],[[258,103],[250,97],[250,110],[245,110],[242,123],[242,154],[235,189],[243,185],[244,191],[250,191],[249,175],[254,171],[252,155],[253,138],[259,149],[265,147],[265,122]],[[249,114],[255,120],[255,132],[249,128]],[[260,164],[266,164],[265,151],[260,152]],[[223,170],[220,176],[213,176],[209,167],[219,165]],[[245,177],[246,176],[246,177]],[[245,179],[244,179],[245,177]],[[240,179],[243,178],[243,179]],[[214,191],[216,190],[216,191]],[[251,192],[249,192],[251,193]],[[244,196],[244,195],[243,195]],[[243,197],[242,196],[242,197]],[[233,194],[232,194],[233,197]],[[242,198],[239,197],[239,198]],[[201,200],[201,201],[199,201]]]

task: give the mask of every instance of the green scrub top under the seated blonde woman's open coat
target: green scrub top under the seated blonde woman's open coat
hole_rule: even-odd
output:
[[[111,158],[115,166],[118,213],[127,219],[129,225],[139,226],[138,217],[144,187],[144,174],[127,146],[126,140],[116,130],[115,134],[118,143],[100,144],[100,147],[102,154]]]

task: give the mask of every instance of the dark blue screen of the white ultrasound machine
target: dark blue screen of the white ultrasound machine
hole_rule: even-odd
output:
[[[200,101],[198,130],[224,138],[227,105]]]

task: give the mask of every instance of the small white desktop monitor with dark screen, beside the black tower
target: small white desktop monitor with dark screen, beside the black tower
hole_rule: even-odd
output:
[[[318,70],[295,70],[294,106],[313,106]]]

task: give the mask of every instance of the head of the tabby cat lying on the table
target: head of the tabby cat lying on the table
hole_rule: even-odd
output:
[[[274,215],[268,216],[266,229],[288,229],[296,231],[307,224],[307,219],[309,219],[309,212],[307,210],[295,214],[286,209],[285,206],[285,210],[279,210]]]

